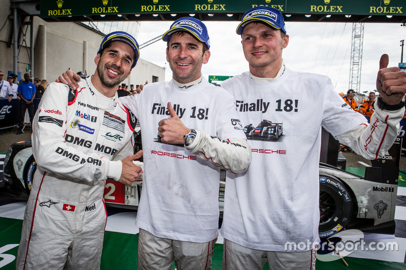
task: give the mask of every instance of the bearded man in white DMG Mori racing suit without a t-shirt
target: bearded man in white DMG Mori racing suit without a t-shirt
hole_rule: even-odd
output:
[[[112,32],[98,50],[97,70],[77,90],[52,83],[45,92],[32,127],[38,167],[17,269],[99,269],[105,180],[131,184],[141,172],[133,163],[142,155],[133,155],[137,120],[116,94],[138,58],[137,41]]]

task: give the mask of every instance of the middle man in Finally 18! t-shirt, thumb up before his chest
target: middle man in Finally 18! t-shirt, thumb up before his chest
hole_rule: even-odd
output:
[[[251,148],[234,97],[201,74],[210,58],[206,26],[180,18],[162,40],[173,80],[120,98],[142,131],[138,269],[171,269],[173,260],[178,269],[210,269],[218,236],[220,168],[244,172]]]

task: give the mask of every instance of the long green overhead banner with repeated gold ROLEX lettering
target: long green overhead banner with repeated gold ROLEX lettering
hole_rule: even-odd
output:
[[[271,6],[286,15],[392,15],[406,12],[404,0],[41,0],[41,17],[142,14],[244,13],[257,6]],[[117,18],[119,20],[119,18]]]

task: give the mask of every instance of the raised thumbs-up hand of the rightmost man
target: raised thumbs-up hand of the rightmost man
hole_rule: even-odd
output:
[[[389,105],[397,105],[406,94],[406,72],[398,67],[389,67],[389,56],[383,54],[379,61],[377,90],[382,100]]]

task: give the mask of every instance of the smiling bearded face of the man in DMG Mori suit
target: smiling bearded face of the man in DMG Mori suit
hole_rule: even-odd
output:
[[[96,88],[102,86],[116,90],[118,85],[128,78],[133,61],[134,52],[130,46],[123,42],[112,42],[101,52],[101,55],[98,53],[94,59],[97,70],[92,83]]]

